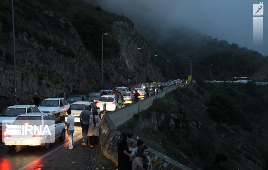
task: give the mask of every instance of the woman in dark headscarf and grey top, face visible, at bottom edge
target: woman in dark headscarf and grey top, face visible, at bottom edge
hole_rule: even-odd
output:
[[[137,157],[133,161],[132,170],[152,170],[150,156],[148,156],[148,147],[146,145],[139,146]]]

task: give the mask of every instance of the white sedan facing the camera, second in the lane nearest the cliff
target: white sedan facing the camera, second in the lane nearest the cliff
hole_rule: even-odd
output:
[[[39,105],[38,109],[44,113],[52,113],[59,120],[65,116],[70,104],[64,98],[48,98],[44,99]]]

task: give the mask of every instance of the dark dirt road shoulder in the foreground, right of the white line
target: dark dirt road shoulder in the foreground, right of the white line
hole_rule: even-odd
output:
[[[41,161],[37,161],[35,165],[30,166],[28,169],[111,169],[116,170],[117,166],[113,161],[107,159],[101,153],[101,145],[98,144],[94,147],[89,145],[81,145],[82,140],[74,145],[73,150],[66,150],[65,148],[59,149],[53,154],[45,157]]]

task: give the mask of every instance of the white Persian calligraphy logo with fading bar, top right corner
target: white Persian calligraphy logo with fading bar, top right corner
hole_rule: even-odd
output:
[[[263,7],[263,2],[252,5],[254,45],[263,45]]]

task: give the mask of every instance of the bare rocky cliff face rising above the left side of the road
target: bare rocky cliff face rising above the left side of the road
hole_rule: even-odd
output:
[[[49,9],[35,7],[33,11],[31,19],[15,12],[15,23],[20,28],[16,30],[15,26],[17,104],[32,104],[34,92],[44,99],[58,97],[60,91],[68,96],[101,90],[101,59],[95,60],[72,23]],[[13,104],[14,95],[12,29],[6,30],[5,24],[0,20],[0,100],[4,106]],[[150,48],[132,23],[115,21],[108,33],[120,44],[120,52],[117,58],[104,59],[106,84],[111,88],[128,86],[128,78],[136,83],[137,56],[138,82],[160,80],[159,70],[150,64]]]

